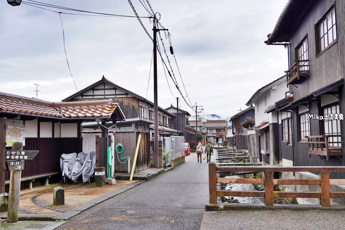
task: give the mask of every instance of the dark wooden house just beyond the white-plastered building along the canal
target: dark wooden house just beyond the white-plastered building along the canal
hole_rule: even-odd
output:
[[[247,121],[255,122],[255,108],[253,106],[240,111],[230,118],[233,126],[234,147],[236,149],[248,149],[248,128],[242,126]]]

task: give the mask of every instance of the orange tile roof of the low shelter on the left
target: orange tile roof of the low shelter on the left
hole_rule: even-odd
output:
[[[118,110],[125,118],[118,103],[112,100],[48,102],[1,92],[0,110],[55,118],[111,117]]]

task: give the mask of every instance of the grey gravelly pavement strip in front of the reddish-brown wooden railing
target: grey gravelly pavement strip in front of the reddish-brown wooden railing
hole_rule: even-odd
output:
[[[249,210],[205,212],[200,229],[345,229],[345,211]]]

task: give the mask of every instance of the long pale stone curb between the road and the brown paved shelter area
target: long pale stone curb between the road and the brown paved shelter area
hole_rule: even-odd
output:
[[[73,208],[73,209],[71,209],[69,211],[66,211],[66,212],[58,215],[58,216],[55,216],[51,220],[68,220],[68,219],[76,216],[80,212],[85,211],[85,210],[91,208],[92,206],[95,206],[96,204],[102,202],[102,201],[105,201],[105,200],[107,200],[107,199],[109,199],[111,197],[114,197],[117,194],[120,194],[120,193],[122,193],[122,192],[124,192],[124,191],[126,191],[128,189],[131,189],[131,188],[137,186],[138,184],[141,184],[141,183],[144,183],[144,182],[145,181],[141,180],[141,181],[136,181],[134,183],[128,184],[128,185],[126,185],[126,186],[124,186],[122,188],[119,188],[119,189],[117,189],[117,190],[115,190],[113,192],[105,194],[105,195],[103,195],[101,197],[98,197],[96,199],[90,200],[90,201],[88,201],[86,203],[83,203],[83,204],[79,205],[78,207],[75,207],[75,208]]]

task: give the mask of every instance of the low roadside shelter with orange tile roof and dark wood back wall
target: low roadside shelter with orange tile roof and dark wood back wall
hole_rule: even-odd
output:
[[[95,117],[105,121],[125,118],[118,103],[111,100],[49,102],[1,92],[0,117],[7,120],[6,149],[20,141],[24,150],[39,150],[33,160],[25,162],[22,171],[22,181],[30,182],[60,174],[62,153],[82,151],[82,122],[95,121]],[[5,156],[4,150],[0,147],[0,165],[10,157]],[[0,175],[0,188],[4,188],[10,173],[2,171]]]

